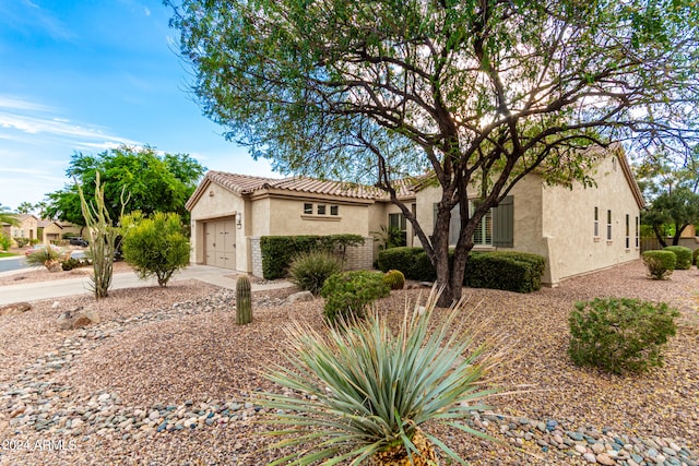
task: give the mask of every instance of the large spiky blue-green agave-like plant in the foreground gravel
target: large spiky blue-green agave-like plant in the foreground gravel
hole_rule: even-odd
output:
[[[502,355],[487,353],[457,324],[458,316],[469,321],[463,300],[430,324],[438,297],[433,289],[424,307],[411,311],[406,303],[396,333],[376,312],[328,334],[298,323],[287,330],[289,365],[265,377],[304,396],[265,393],[259,401],[282,413],[269,421],[281,428],[272,434],[285,437],[273,447],[294,450],[272,465],[436,465],[436,447],[464,464],[424,425],[486,437],[461,421],[485,408],[482,401],[494,391],[481,382]]]

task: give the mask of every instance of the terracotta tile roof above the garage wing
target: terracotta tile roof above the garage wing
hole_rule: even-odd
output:
[[[253,177],[250,175],[228,174],[225,171],[209,171],[202,182],[199,184],[190,200],[187,202],[188,208],[201,195],[206,180],[222,186],[239,195],[252,194],[262,190],[282,190],[308,194],[336,195],[340,198],[360,199],[360,200],[388,200],[388,194],[375,187],[357,184],[344,181],[319,180],[309,177],[288,177],[288,178],[264,178]],[[398,183],[399,198],[408,198],[415,195],[414,187],[407,180],[401,180]]]

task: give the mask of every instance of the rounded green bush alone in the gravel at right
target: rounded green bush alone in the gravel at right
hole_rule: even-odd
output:
[[[613,373],[662,366],[663,345],[674,336],[679,313],[666,303],[596,298],[578,302],[570,313],[568,354],[577,366]]]

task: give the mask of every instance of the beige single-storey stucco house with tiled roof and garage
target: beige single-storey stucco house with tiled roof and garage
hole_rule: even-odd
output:
[[[475,250],[517,250],[546,258],[543,282],[609,267],[639,258],[641,192],[620,147],[601,158],[595,188],[547,186],[524,177],[482,220]],[[434,225],[439,189],[400,183],[399,198],[420,225]],[[399,207],[366,186],[305,177],[271,179],[210,171],[187,202],[191,212],[191,261],[262,275],[260,237],[356,234],[364,247],[348,254],[351,267],[370,267],[377,254],[371,232],[404,231],[420,246]],[[457,214],[457,212],[454,212]],[[459,219],[453,215],[450,238]]]

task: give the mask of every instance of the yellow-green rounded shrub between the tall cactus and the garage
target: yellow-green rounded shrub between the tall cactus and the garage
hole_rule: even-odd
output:
[[[167,286],[175,272],[189,265],[189,239],[176,213],[144,217],[137,211],[120,223],[123,260],[142,279],[156,276],[159,286]]]

